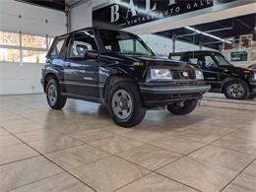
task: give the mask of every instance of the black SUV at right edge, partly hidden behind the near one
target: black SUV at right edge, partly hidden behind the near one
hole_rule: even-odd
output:
[[[169,58],[197,64],[201,67],[210,92],[224,93],[232,99],[254,98],[256,95],[256,71],[230,64],[220,52],[188,51],[170,53]]]

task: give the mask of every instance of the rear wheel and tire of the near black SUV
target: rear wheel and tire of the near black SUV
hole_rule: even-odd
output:
[[[55,91],[53,91],[55,89]],[[54,93],[52,93],[54,92]],[[53,96],[54,95],[54,96]],[[53,100],[53,96],[54,100]],[[57,80],[51,78],[48,80],[47,86],[46,86],[46,98],[49,106],[52,109],[60,110],[62,109],[66,104],[66,97],[61,96],[60,92],[60,86]]]

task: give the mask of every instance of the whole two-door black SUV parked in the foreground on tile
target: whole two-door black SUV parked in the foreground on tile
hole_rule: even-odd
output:
[[[159,59],[137,35],[89,28],[55,37],[42,68],[48,104],[105,102],[113,121],[139,124],[150,107],[186,114],[210,90],[193,64]]]

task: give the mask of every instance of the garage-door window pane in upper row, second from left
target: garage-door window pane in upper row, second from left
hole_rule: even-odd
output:
[[[33,48],[46,48],[46,37],[44,36],[33,36],[30,34],[22,35],[24,47],[33,47]]]

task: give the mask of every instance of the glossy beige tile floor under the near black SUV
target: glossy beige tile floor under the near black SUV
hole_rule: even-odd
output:
[[[148,111],[137,127],[70,99],[0,96],[0,192],[256,191],[256,112]]]

